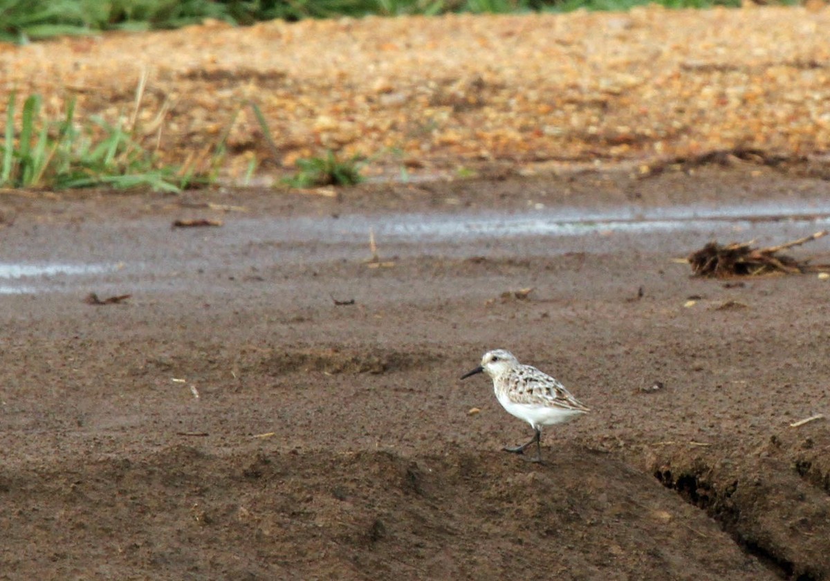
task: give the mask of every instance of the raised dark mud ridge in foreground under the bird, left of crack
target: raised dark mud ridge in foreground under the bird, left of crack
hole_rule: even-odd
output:
[[[622,563],[641,579],[763,574],[647,475],[579,449],[535,466],[498,452],[173,446],[13,473],[0,472],[0,497],[17,506],[0,510],[5,530],[17,524],[0,567],[27,554],[41,579],[82,568],[89,546],[120,578],[602,579]],[[551,543],[565,549],[553,564]]]

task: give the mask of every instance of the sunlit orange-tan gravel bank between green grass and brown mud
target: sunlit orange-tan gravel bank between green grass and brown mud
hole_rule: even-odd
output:
[[[12,90],[55,119],[74,98],[81,124],[134,120],[176,163],[207,163],[230,128],[237,178],[251,158],[272,175],[326,149],[394,176],[820,155],[828,27],[830,10],[804,7],[209,22],[0,45],[0,114]]]

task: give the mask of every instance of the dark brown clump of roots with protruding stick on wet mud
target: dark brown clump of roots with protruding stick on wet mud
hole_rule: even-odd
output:
[[[803,272],[818,272],[828,268],[828,265],[810,265],[808,261],[797,261],[792,256],[779,254],[788,248],[801,246],[828,235],[827,230],[816,232],[810,236],[798,238],[774,247],[753,248],[749,242],[733,242],[721,246],[717,242],[710,242],[698,251],[692,252],[686,261],[691,264],[693,276],[708,276],[710,278],[725,276],[761,276],[773,273],[800,274]]]

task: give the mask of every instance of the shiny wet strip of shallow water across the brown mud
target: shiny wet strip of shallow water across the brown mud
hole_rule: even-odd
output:
[[[544,207],[521,212],[410,212],[374,216],[242,217],[222,228],[159,234],[159,223],[89,222],[83,228],[95,247],[80,247],[71,232],[49,232],[14,247],[17,257],[58,260],[0,262],[0,295],[49,291],[112,291],[114,294],[217,288],[227,271],[241,277],[282,260],[308,264],[362,260],[369,233],[383,256],[479,256],[510,251],[522,256],[612,251],[625,242],[669,256],[712,239],[754,238],[770,243],[808,236],[830,227],[830,203],[756,203],[722,207]],[[828,251],[828,237],[811,244]],[[441,247],[433,247],[437,243]],[[760,242],[759,242],[760,243]],[[9,260],[12,258],[12,260]],[[222,276],[217,273],[222,272]],[[194,278],[194,274],[198,276]],[[206,273],[206,276],[203,276]],[[216,274],[213,278],[211,274]]]

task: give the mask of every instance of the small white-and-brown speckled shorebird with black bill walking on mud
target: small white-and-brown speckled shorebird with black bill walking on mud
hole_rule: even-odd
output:
[[[530,458],[532,462],[542,461],[542,426],[569,422],[590,411],[562,383],[535,367],[520,364],[510,351],[488,351],[481,358],[481,365],[461,375],[461,379],[481,372],[493,379],[493,391],[501,406],[530,423],[535,431],[530,442],[523,446],[505,447],[505,452],[524,454],[536,442],[536,456]]]

